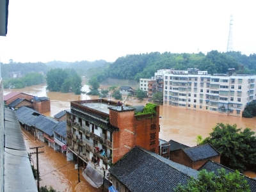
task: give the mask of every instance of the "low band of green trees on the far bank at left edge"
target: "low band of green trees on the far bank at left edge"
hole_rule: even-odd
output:
[[[42,74],[33,72],[20,78],[4,79],[4,88],[24,88],[25,86],[31,86],[43,82],[44,76]]]

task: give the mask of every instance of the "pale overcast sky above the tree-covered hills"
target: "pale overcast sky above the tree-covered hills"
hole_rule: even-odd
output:
[[[0,61],[115,61],[143,52],[256,52],[256,1],[12,0]]]

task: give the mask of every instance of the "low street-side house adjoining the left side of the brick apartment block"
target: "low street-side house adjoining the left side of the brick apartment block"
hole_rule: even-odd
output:
[[[67,151],[67,123],[58,122],[53,131],[54,150],[66,153]]]

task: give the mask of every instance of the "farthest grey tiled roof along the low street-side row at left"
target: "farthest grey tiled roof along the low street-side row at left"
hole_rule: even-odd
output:
[[[35,119],[39,115],[41,115],[37,111],[27,108],[25,106],[17,109],[17,111],[15,111],[15,114],[21,124],[26,124],[28,126],[35,126]]]

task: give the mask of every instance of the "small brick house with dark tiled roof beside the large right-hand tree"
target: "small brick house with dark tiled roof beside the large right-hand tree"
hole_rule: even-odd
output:
[[[210,144],[181,148],[171,152],[170,159],[198,170],[208,160],[220,163],[220,153]]]

